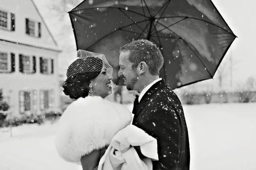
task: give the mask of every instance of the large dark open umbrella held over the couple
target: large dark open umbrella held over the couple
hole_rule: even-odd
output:
[[[172,89],[213,78],[236,35],[210,0],[89,0],[69,12],[77,49],[103,53],[118,79],[119,48],[148,39]]]

